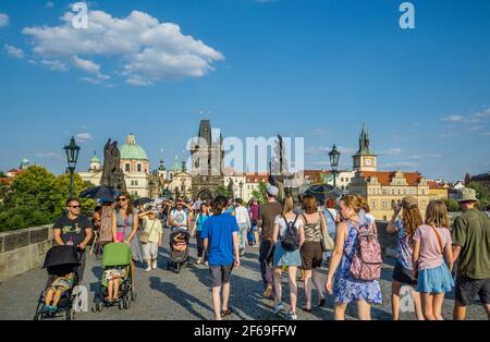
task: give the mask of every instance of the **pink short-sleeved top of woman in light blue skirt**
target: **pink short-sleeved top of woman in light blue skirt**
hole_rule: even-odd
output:
[[[442,253],[438,236],[430,225],[422,224],[415,231],[414,241],[420,242],[418,269],[436,268],[444,262],[443,254],[448,244],[452,244],[451,233],[446,228],[438,228],[442,242]]]

